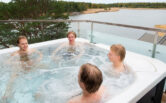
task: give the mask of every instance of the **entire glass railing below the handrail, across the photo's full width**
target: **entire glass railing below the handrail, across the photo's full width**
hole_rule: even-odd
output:
[[[95,21],[94,21],[95,22]],[[93,43],[106,45],[122,44],[129,51],[152,57],[155,35],[158,39],[154,56],[166,62],[166,36],[160,37],[154,31],[134,29],[130,27],[112,26],[94,23],[93,21],[32,21],[32,22],[1,22],[0,48],[16,45],[18,35],[26,35],[31,43],[54,40],[66,37],[68,31],[74,31],[80,38]],[[11,40],[8,40],[11,39]],[[4,43],[8,45],[5,46]],[[14,43],[14,44],[13,44]]]

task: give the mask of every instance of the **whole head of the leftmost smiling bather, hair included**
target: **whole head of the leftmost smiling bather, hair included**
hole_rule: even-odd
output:
[[[19,36],[17,39],[17,45],[19,46],[20,50],[26,51],[28,49],[28,41],[25,36]]]

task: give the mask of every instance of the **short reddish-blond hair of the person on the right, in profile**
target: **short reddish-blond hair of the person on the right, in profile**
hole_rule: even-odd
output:
[[[126,55],[126,50],[121,44],[113,44],[110,48],[116,55],[120,56],[120,60],[123,61]]]

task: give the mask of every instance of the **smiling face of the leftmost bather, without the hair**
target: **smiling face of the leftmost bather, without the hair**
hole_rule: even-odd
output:
[[[28,49],[28,41],[27,39],[23,38],[19,40],[18,46],[21,51],[27,51]]]

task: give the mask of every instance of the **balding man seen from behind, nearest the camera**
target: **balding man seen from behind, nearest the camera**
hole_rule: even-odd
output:
[[[82,93],[68,101],[68,103],[102,103],[106,98],[106,89],[102,86],[103,76],[98,67],[83,64],[78,74],[78,83]]]

